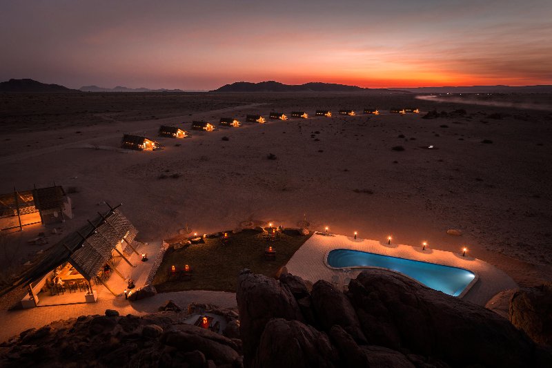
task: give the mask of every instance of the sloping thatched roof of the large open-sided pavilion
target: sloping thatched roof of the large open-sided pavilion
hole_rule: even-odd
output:
[[[34,263],[21,273],[18,280],[10,288],[3,290],[1,294],[23,284],[39,280],[65,262],[70,262],[81,275],[90,280],[106,264],[117,243],[125,235],[126,240],[132,242],[136,234],[135,227],[118,209],[98,215],[90,223],[84,224],[77,231],[63,237],[48,250],[39,262]]]

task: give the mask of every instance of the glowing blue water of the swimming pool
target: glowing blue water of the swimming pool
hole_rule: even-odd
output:
[[[459,296],[475,278],[473,272],[457,267],[444,266],[405,258],[391,257],[375,253],[353,251],[351,249],[334,249],[328,253],[328,264],[331,267],[382,267],[404,273],[426,287],[442,291],[451,296]]]

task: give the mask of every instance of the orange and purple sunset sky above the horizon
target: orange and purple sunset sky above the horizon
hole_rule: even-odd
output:
[[[0,80],[552,84],[552,1],[5,1]]]

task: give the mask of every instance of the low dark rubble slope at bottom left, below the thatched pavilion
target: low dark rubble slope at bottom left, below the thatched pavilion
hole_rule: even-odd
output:
[[[81,316],[23,331],[0,345],[0,367],[242,367],[241,341],[175,312]]]

